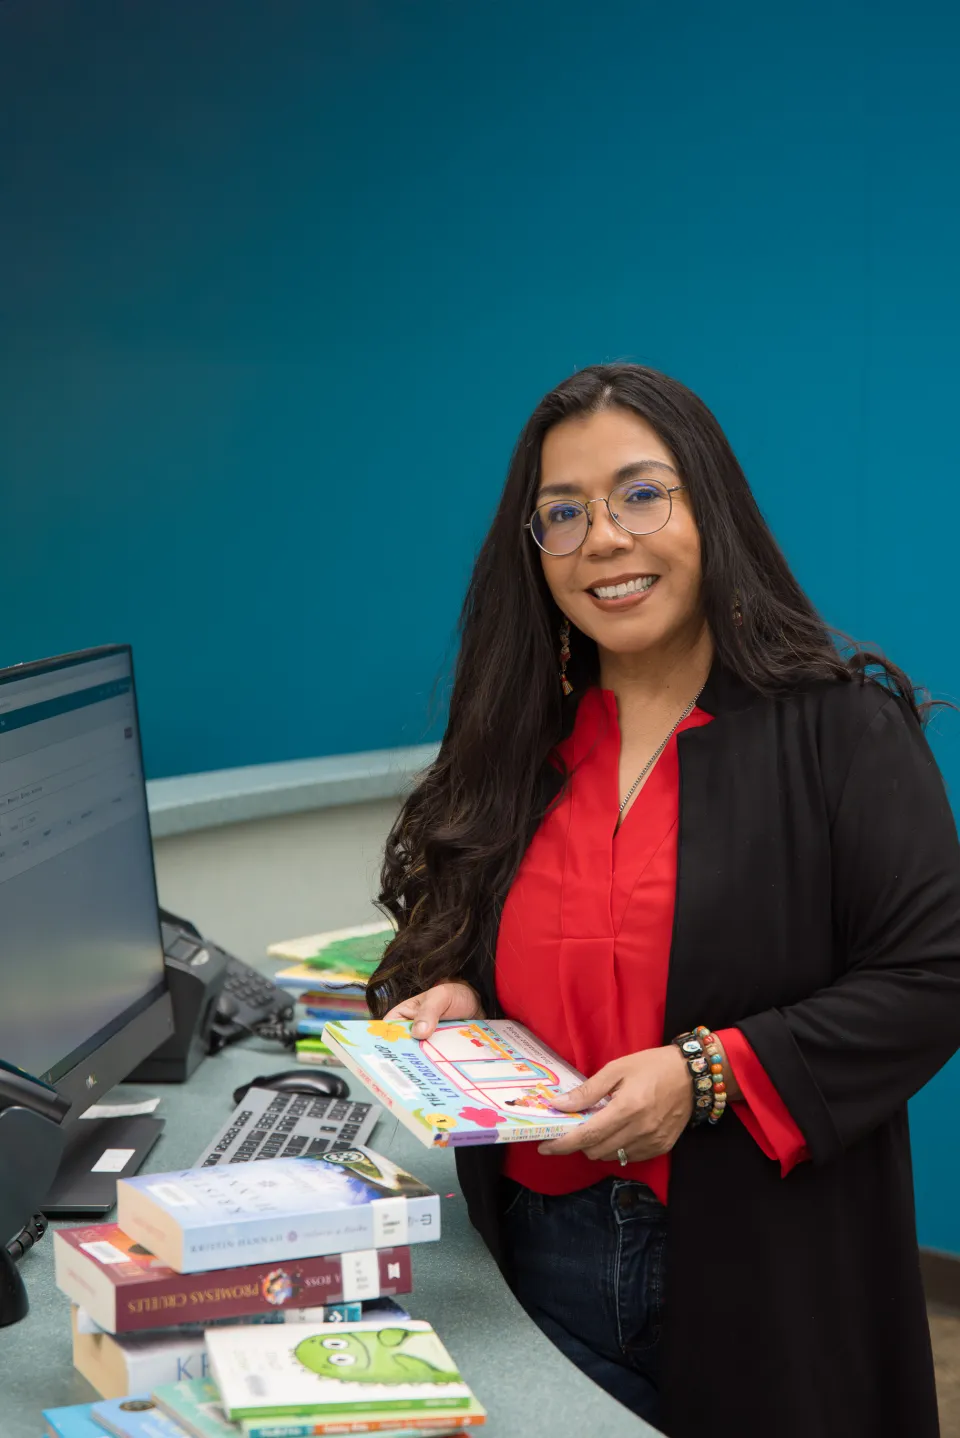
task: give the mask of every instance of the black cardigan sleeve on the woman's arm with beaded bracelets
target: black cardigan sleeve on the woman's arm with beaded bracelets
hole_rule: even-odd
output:
[[[960,1044],[957,830],[923,732],[892,696],[854,748],[831,853],[836,979],[737,1024],[815,1163],[890,1119]]]

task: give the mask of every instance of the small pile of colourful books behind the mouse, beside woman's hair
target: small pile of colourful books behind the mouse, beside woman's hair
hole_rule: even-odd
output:
[[[295,998],[293,1022],[300,1063],[328,1067],[339,1063],[320,1037],[323,1025],[336,1018],[369,1017],[366,984],[394,932],[391,923],[381,920],[270,945],[267,953],[272,958],[287,961],[287,968],[273,978]]]

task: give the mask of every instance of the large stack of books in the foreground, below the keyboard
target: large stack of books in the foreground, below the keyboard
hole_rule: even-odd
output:
[[[395,1301],[438,1196],[372,1149],[118,1183],[118,1222],[55,1234],[73,1362],[103,1402],[50,1438],[460,1434],[484,1421]]]

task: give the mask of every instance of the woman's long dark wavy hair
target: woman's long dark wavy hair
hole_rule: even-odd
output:
[[[881,679],[920,722],[928,702],[882,656],[846,657],[767,529],[710,410],[675,380],[632,364],[592,365],[552,390],[527,420],[460,617],[460,653],[440,755],[407,798],[381,871],[379,906],[398,926],[368,989],[374,1012],[491,961],[490,917],[523,857],[542,775],[571,706],[599,677],[596,646],[575,631],[563,700],[560,613],[529,519],[543,437],[560,420],[632,410],[671,450],[701,544],[701,601],[720,663],[763,695],[815,679]],[[734,624],[733,594],[742,624]],[[576,640],[579,638],[579,643]]]

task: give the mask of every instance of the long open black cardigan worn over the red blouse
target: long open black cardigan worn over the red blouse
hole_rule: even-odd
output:
[[[872,682],[773,700],[714,664],[700,706],[713,723],[678,738],[664,1041],[742,1028],[811,1162],[782,1179],[731,1114],[677,1143],[664,1432],[936,1438],[907,1099],[960,1045],[943,781],[905,705]],[[489,959],[469,976],[499,1012]],[[457,1150],[503,1267],[499,1162]]]

